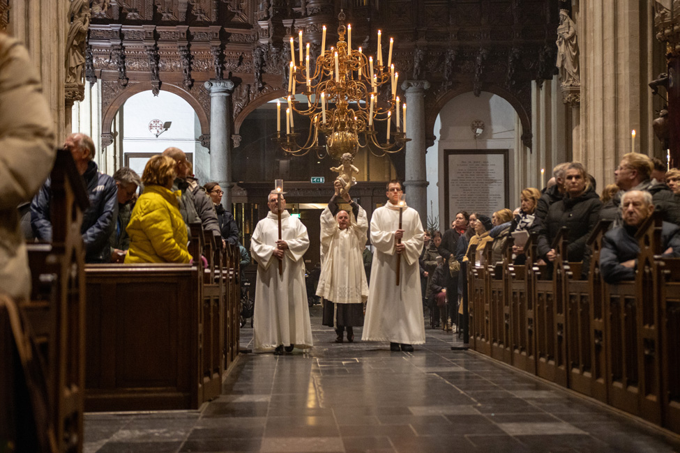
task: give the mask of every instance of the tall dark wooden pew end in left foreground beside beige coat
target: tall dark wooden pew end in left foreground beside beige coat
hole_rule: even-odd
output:
[[[49,410],[59,450],[83,443],[85,279],[80,227],[89,199],[71,153],[56,154],[52,243],[28,244],[31,300],[20,303],[46,365]],[[0,371],[1,372],[1,371]]]

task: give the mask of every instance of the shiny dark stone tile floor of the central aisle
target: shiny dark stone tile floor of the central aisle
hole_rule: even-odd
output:
[[[86,414],[84,452],[680,452],[678,437],[451,351],[441,330],[392,353],[335,344],[310,312],[309,353],[243,355],[202,412]],[[241,336],[250,344],[250,324]]]

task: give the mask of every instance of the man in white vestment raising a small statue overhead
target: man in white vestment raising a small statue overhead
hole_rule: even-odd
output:
[[[337,181],[337,180],[336,180]],[[351,206],[351,214],[338,203]],[[335,327],[336,343],[354,341],[353,327],[363,325],[363,302],[368,298],[368,283],[363,268],[363,248],[368,231],[368,216],[340,187],[321,213],[322,270],[317,295],[324,298],[323,324]]]

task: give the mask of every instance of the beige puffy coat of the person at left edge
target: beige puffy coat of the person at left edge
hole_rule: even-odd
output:
[[[50,108],[28,52],[0,33],[0,293],[28,298],[26,245],[17,205],[50,174],[56,151]]]

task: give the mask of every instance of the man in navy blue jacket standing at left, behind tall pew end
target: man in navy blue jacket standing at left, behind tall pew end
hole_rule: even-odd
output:
[[[114,231],[118,217],[118,188],[111,176],[100,173],[94,158],[94,143],[87,135],[76,132],[66,137],[63,147],[73,155],[75,167],[82,175],[90,207],[83,215],[80,229],[85,245],[86,263],[107,263],[109,238]],[[50,221],[50,198],[52,183],[48,179],[31,203],[31,227],[36,238],[52,241]]]

